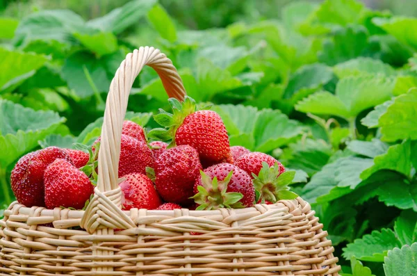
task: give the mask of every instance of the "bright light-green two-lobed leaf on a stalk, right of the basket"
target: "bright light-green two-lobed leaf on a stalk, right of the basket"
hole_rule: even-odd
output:
[[[394,83],[391,79],[375,76],[350,76],[341,79],[336,95],[317,92],[301,102],[295,109],[304,113],[356,117],[367,108],[390,99]]]

